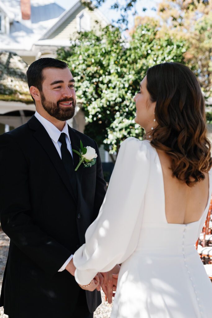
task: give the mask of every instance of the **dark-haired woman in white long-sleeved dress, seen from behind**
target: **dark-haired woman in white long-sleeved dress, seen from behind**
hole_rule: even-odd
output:
[[[121,144],[74,254],[75,279],[93,290],[98,272],[121,263],[111,317],[209,317],[212,284],[194,246],[212,192],[201,88],[188,67],[164,63],[148,69],[134,101],[146,140]]]

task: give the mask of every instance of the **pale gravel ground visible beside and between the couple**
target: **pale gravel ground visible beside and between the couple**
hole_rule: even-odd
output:
[[[9,241],[10,241],[9,238],[6,236],[6,234],[4,234],[4,232],[1,230],[1,227],[0,227],[0,290],[2,286],[4,268],[7,261]],[[112,304],[110,305],[107,303],[107,301],[105,301],[104,293],[102,291],[101,291],[101,294],[102,294],[102,304],[95,311],[94,318],[110,318]],[[0,307],[0,318],[8,318],[8,315],[4,315],[3,313],[3,307]],[[47,317],[47,318],[51,318],[51,317]]]

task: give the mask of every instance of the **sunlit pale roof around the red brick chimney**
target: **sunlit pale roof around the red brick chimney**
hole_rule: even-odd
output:
[[[22,19],[20,0],[0,0],[0,10],[12,20],[10,34],[0,34],[2,50],[31,50],[65,11],[51,0],[31,0],[31,20]]]

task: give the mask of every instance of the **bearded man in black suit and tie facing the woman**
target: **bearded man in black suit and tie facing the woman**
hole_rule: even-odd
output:
[[[105,196],[99,149],[67,125],[76,95],[65,62],[39,59],[27,80],[36,113],[0,136],[0,217],[10,237],[0,306],[10,318],[91,318],[100,293],[76,283],[72,255]],[[75,172],[80,140],[97,158]]]

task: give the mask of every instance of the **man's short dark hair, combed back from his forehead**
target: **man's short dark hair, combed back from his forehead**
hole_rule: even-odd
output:
[[[68,65],[63,61],[60,61],[58,59],[52,59],[52,58],[41,58],[34,61],[29,66],[26,72],[27,83],[29,88],[31,86],[35,86],[38,88],[40,92],[42,92],[42,84],[44,81],[43,70],[44,68],[47,68],[47,67],[66,68],[68,67]],[[34,100],[33,97],[32,99]]]

